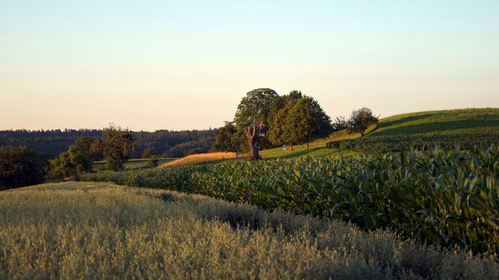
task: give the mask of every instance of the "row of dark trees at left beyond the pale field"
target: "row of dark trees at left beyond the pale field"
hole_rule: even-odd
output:
[[[0,190],[39,184],[45,179],[64,179],[80,172],[88,172],[92,170],[92,162],[103,157],[106,159],[108,169],[123,169],[123,164],[129,159],[136,143],[128,129],[111,124],[102,130],[102,140],[81,137],[66,151],[48,162],[27,146],[2,145],[0,146]]]

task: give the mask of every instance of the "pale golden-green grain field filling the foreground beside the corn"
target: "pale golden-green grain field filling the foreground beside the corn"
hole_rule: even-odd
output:
[[[110,183],[0,192],[0,279],[496,279],[492,257]]]

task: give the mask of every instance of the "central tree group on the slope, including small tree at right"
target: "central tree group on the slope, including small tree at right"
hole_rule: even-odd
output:
[[[250,152],[259,159],[258,150],[272,146],[308,144],[325,138],[334,131],[348,129],[364,136],[377,122],[369,108],[353,110],[350,119],[336,118],[334,124],[319,103],[300,91],[279,96],[272,89],[255,89],[238,105],[233,122],[225,122],[215,134],[212,151]]]

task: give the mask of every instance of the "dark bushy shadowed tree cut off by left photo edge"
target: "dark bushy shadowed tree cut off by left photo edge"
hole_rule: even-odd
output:
[[[43,183],[41,156],[26,146],[0,146],[0,190]]]

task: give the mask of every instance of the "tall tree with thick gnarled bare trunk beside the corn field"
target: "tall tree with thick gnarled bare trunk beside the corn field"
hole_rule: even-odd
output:
[[[269,126],[270,104],[277,96],[272,89],[259,88],[248,92],[238,105],[234,123],[238,133],[246,136],[252,159],[260,159],[260,141]]]

